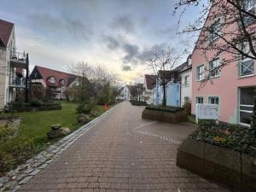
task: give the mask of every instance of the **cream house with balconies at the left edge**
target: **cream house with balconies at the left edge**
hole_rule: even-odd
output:
[[[0,20],[0,109],[15,100],[25,100],[28,56],[15,47],[15,25]]]

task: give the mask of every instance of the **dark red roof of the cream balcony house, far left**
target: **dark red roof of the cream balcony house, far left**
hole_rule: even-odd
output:
[[[0,20],[0,46],[7,47],[14,26],[9,21]]]

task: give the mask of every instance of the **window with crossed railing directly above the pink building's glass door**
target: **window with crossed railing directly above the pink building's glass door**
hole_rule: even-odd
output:
[[[242,49],[247,55],[251,55],[249,44],[244,43],[242,45]],[[239,64],[239,76],[243,77],[243,76],[252,75],[252,74],[254,74],[253,59],[241,55],[241,61]]]

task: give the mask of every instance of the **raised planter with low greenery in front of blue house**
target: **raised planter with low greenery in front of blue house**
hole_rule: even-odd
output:
[[[186,113],[183,108],[175,107],[161,108],[148,106],[143,110],[142,115],[143,119],[153,119],[173,124],[183,122],[185,117]]]

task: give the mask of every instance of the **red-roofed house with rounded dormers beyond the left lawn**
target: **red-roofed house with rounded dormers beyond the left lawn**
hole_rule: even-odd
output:
[[[33,83],[40,83],[49,90],[53,99],[66,99],[66,90],[77,82],[78,76],[46,67],[35,66],[30,75]]]

